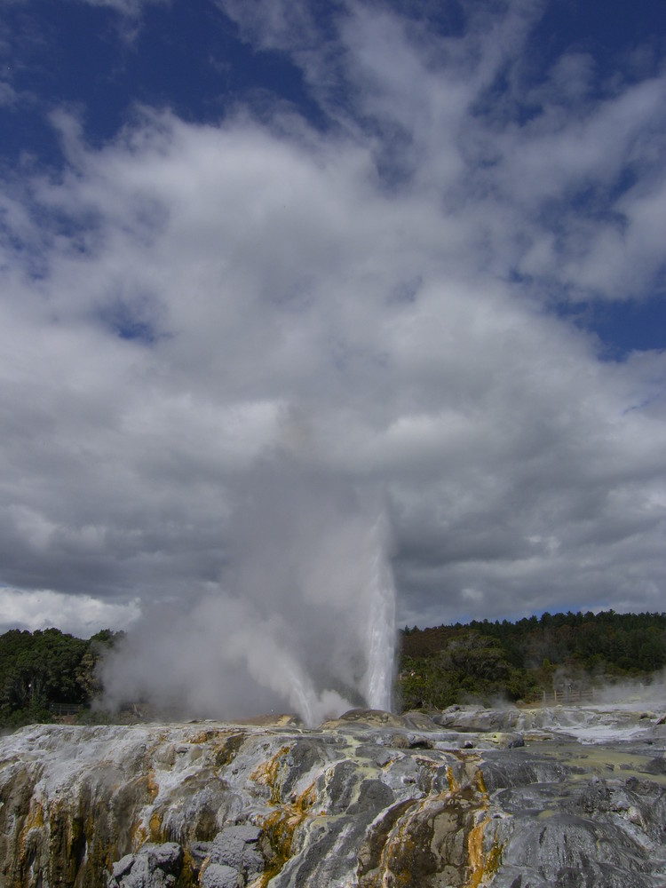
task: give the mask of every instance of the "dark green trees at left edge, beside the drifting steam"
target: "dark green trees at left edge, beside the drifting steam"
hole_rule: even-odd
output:
[[[105,629],[86,640],[58,629],[0,635],[0,726],[48,722],[90,706],[100,691],[99,658],[122,634]]]

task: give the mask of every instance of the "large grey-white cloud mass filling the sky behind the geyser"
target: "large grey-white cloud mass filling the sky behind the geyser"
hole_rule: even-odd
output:
[[[601,363],[543,303],[650,291],[663,81],[591,99],[570,55],[530,98],[518,4],[442,42],[349,4],[321,54],[305,6],[226,10],[349,107],[327,131],[144,109],[99,149],[53,118],[67,170],[2,198],[4,582],[207,601],[286,451],[385,491],[410,623],[661,609],[666,357]],[[527,123],[478,110],[506,66]]]

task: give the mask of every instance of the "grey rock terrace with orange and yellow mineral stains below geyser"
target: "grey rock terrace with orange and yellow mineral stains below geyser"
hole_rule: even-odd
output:
[[[0,741],[6,888],[666,885],[666,724],[353,711]]]

